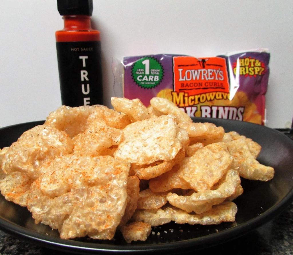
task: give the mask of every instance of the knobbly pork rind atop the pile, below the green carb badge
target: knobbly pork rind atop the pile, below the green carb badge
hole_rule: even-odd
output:
[[[126,114],[132,122],[148,119],[152,116],[151,111],[139,99],[112,97],[111,104],[117,112]]]

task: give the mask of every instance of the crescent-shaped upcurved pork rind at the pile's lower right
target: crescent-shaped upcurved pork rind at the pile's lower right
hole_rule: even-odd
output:
[[[201,214],[212,208],[213,205],[220,204],[236,192],[240,185],[239,173],[235,170],[228,170],[224,178],[219,181],[215,190],[205,190],[194,192],[190,196],[179,196],[175,193],[167,195],[168,202],[186,212]]]

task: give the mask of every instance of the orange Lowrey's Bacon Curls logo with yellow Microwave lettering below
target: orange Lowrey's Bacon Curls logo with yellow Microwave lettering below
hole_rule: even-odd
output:
[[[229,99],[229,80],[224,58],[173,57],[173,72],[173,102],[179,107],[214,99]]]

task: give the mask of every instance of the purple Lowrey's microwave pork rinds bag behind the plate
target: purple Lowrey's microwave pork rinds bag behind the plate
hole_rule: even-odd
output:
[[[146,106],[163,97],[190,117],[265,123],[270,54],[266,50],[217,57],[148,55],[126,57],[123,96]]]

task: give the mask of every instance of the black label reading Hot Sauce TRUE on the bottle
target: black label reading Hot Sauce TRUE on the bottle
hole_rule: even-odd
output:
[[[62,105],[103,103],[100,42],[57,42]]]

